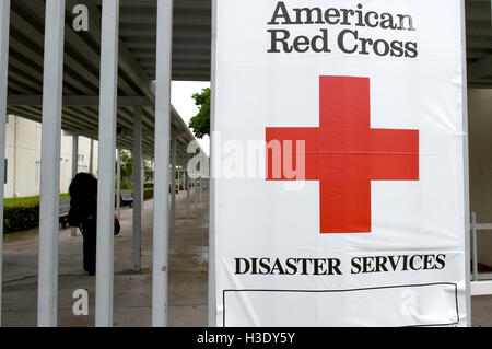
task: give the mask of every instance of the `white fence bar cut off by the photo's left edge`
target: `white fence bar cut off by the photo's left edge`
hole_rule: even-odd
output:
[[[5,183],[7,80],[9,71],[10,0],[0,3],[0,326],[2,325],[3,183]]]

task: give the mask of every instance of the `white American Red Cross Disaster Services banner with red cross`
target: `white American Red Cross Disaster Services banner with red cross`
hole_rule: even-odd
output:
[[[218,326],[465,326],[461,1],[215,11]]]

